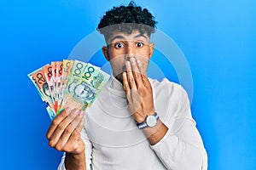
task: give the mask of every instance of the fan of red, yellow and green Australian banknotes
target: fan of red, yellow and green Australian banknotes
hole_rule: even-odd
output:
[[[68,59],[51,62],[27,76],[48,105],[51,120],[66,107],[85,111],[110,77],[96,65]]]

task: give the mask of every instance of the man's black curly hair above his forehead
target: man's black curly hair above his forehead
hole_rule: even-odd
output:
[[[156,23],[154,16],[148,12],[147,8],[138,7],[131,1],[128,6],[121,5],[107,11],[97,31],[100,31],[106,40],[116,31],[131,34],[132,31],[138,30],[141,33],[146,32],[150,37],[155,31]]]

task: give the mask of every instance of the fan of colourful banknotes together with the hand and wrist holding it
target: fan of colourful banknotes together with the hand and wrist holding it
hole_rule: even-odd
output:
[[[48,105],[52,122],[46,134],[49,146],[65,151],[66,169],[86,169],[80,132],[84,113],[110,77],[100,67],[79,60],[51,62],[27,75]]]

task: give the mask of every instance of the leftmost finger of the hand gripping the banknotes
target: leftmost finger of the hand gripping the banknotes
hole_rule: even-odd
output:
[[[55,128],[70,114],[71,109],[67,108],[64,111],[61,111],[59,115],[55,117],[55,119],[51,122],[48,132],[46,133],[46,138],[49,139],[52,133],[55,132]]]

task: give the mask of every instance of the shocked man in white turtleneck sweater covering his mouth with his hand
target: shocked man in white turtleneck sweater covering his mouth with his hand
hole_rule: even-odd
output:
[[[65,151],[59,169],[207,169],[186,92],[147,77],[154,25],[134,3],[103,16],[113,75],[86,114],[67,108],[50,125],[49,145]]]

